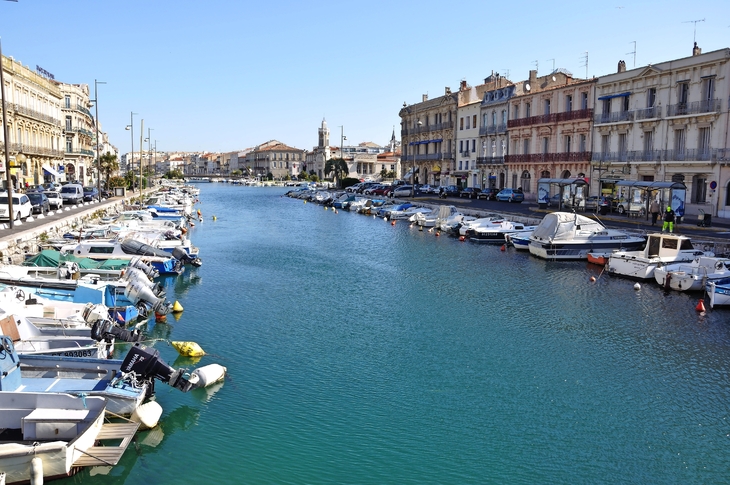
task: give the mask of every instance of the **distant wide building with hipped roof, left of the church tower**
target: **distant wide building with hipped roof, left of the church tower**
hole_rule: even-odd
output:
[[[252,148],[246,154],[244,165],[252,176],[259,179],[271,175],[276,180],[283,180],[287,176],[298,175],[304,160],[304,150],[269,140]]]

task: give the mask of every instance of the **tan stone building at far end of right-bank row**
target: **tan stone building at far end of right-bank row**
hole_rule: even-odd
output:
[[[455,178],[458,93],[446,87],[444,95],[407,105],[401,118],[401,177],[408,182],[448,185]]]

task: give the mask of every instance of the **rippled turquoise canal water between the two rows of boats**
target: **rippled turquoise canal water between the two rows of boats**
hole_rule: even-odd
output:
[[[201,187],[204,264],[165,280],[185,311],[148,332],[229,377],[158,384],[159,429],[65,483],[730,481],[730,312],[281,188]]]

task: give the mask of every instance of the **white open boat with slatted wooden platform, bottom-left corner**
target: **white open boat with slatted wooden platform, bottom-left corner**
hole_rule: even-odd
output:
[[[42,483],[71,476],[80,467],[119,463],[139,423],[104,423],[105,411],[106,400],[101,397],[3,389],[3,483]]]

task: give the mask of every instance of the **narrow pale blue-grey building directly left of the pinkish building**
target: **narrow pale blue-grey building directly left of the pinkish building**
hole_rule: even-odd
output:
[[[507,137],[509,102],[514,96],[524,94],[526,81],[513,84],[498,73],[492,73],[490,77],[494,78],[495,87],[484,92],[479,107],[481,122],[477,148],[480,148],[481,152],[477,157],[477,168],[482,181],[481,187],[503,189],[507,186],[504,159],[509,146]]]

